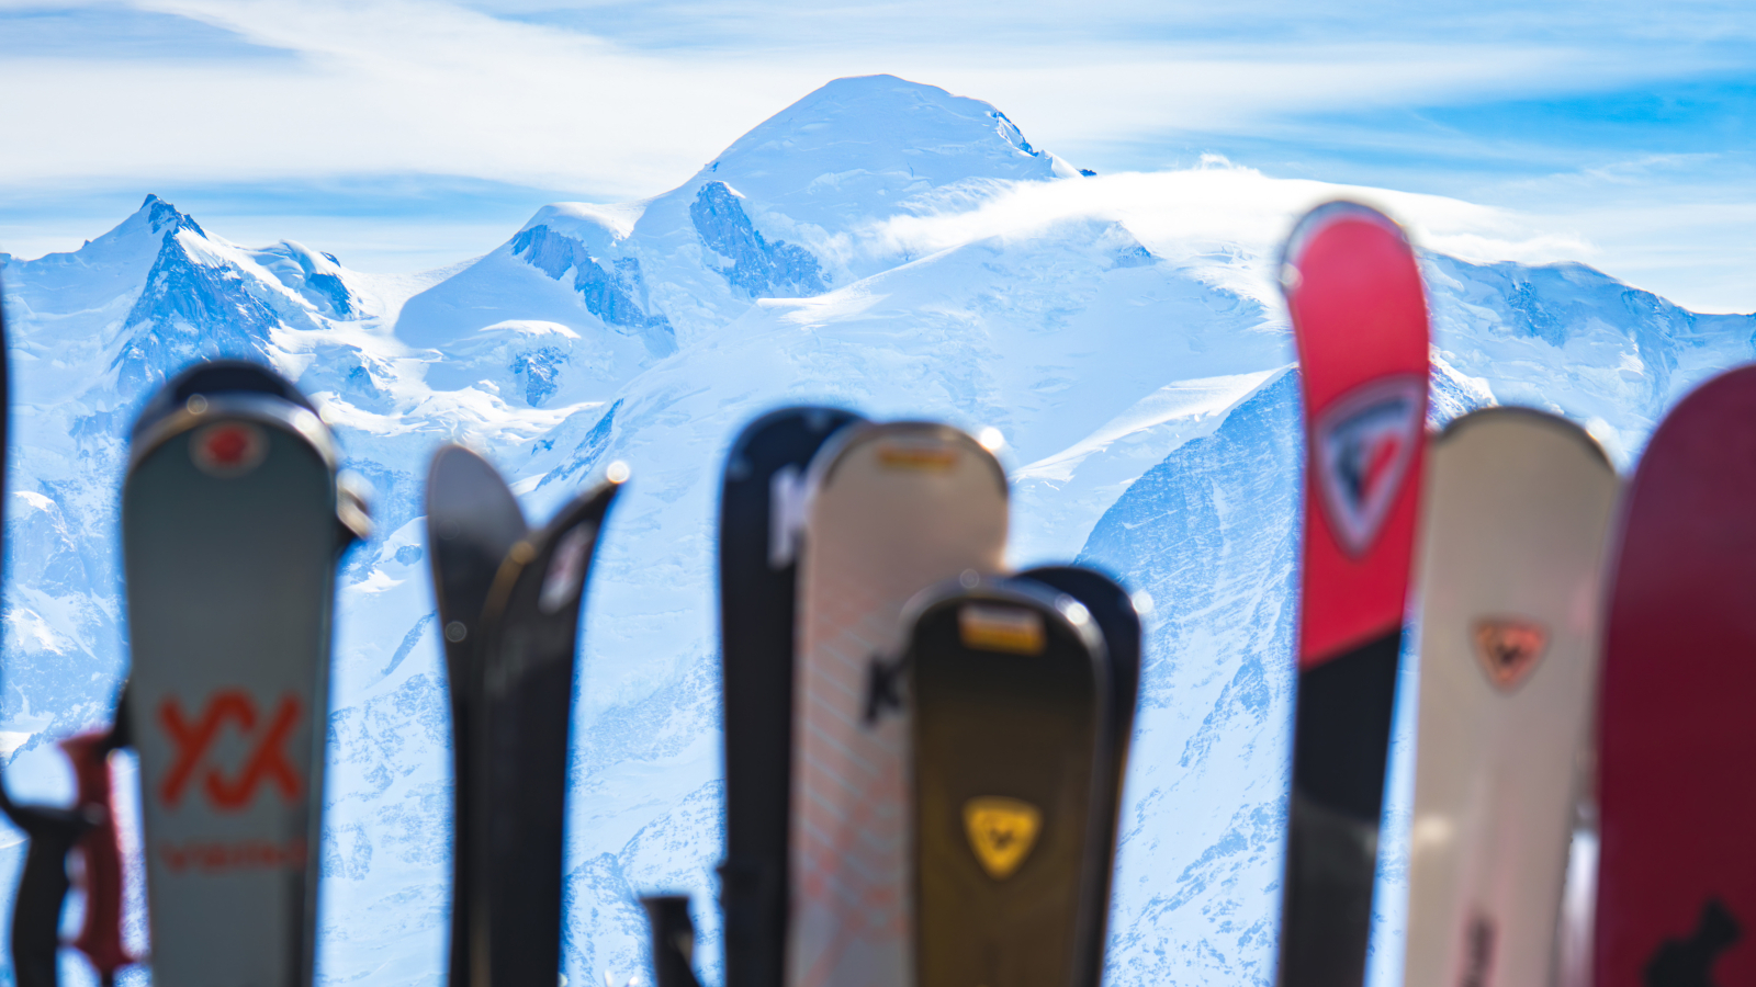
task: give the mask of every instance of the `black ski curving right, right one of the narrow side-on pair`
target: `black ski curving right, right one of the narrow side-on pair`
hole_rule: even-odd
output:
[[[472,987],[560,982],[579,608],[625,467],[613,464],[609,476],[513,543],[483,601],[479,695],[464,699],[476,713],[474,746],[464,753],[474,762],[474,790],[472,803],[457,806],[478,852],[469,897],[453,904],[464,910]]]

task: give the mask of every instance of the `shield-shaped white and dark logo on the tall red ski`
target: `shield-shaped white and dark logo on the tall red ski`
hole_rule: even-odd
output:
[[[1421,441],[1424,388],[1414,376],[1370,381],[1331,402],[1312,430],[1319,501],[1354,558],[1371,548],[1403,488]]]

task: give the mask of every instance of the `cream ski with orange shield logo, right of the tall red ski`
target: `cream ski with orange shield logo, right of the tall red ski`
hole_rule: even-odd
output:
[[[1489,407],[1433,441],[1403,980],[1540,987],[1598,671],[1616,471],[1577,425]]]

